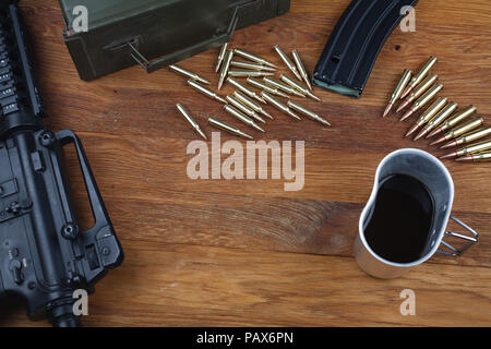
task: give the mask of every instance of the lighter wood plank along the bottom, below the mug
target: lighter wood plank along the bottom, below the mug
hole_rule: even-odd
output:
[[[127,252],[92,296],[86,326],[490,324],[489,268],[424,264],[379,280],[351,258],[146,242]],[[399,312],[404,289],[416,293],[415,316]],[[24,325],[24,314],[8,323]]]

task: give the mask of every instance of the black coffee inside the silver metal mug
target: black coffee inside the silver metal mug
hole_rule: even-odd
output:
[[[410,176],[387,177],[379,189],[364,237],[379,256],[395,263],[419,260],[433,220],[433,198],[427,186]]]

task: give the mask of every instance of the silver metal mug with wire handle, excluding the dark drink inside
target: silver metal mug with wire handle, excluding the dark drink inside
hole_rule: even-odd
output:
[[[421,256],[410,263],[396,263],[384,260],[378,255],[367,242],[364,230],[370,222],[371,214],[375,207],[378,193],[384,179],[393,174],[410,176],[422,182],[433,198],[433,220],[428,234],[426,248]],[[478,233],[455,217],[451,217],[454,201],[454,182],[446,167],[433,155],[419,149],[399,149],[387,155],[379,165],[375,181],[370,200],[360,216],[359,233],[355,241],[355,257],[360,267],[371,276],[378,278],[395,278],[408,272],[429,258],[434,253],[457,256],[464,253],[471,244],[478,242]],[[446,230],[448,219],[468,230],[472,237],[463,236]],[[444,236],[463,239],[467,242],[460,249],[456,249],[443,241]],[[443,244],[448,251],[439,251]]]

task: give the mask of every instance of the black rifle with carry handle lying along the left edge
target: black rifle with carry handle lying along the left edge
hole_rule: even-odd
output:
[[[16,2],[0,0],[0,298],[22,298],[32,320],[79,326],[74,291],[93,292],[123,252],[79,137],[43,127]],[[62,171],[67,144],[75,146],[94,215],[86,231]]]

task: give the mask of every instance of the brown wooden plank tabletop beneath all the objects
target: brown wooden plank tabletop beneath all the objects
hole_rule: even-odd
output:
[[[312,72],[349,0],[294,0],[291,11],[236,33],[232,47],[280,64],[275,44],[297,49]],[[34,43],[48,123],[82,139],[125,252],[89,299],[88,326],[475,326],[491,325],[490,164],[445,161],[454,177],[454,214],[481,233],[458,258],[434,256],[395,280],[367,276],[352,258],[358,217],[375,168],[390,152],[429,142],[403,134],[411,122],[381,113],[405,68],[440,61],[444,95],[475,105],[491,123],[491,4],[488,0],[420,1],[416,33],[396,29],[362,98],[315,88],[304,101],[333,123],[296,122],[275,109],[265,141],[304,141],[304,188],[284,180],[191,180],[188,144],[196,135],[176,111],[187,105],[205,132],[209,116],[232,121],[168,70],[140,67],[85,83],[64,47],[58,2],[22,1]],[[180,64],[217,83],[217,50]],[[232,92],[230,86],[221,95]],[[412,119],[414,121],[414,119]],[[249,130],[248,130],[249,131]],[[251,131],[256,136],[258,132]],[[238,140],[221,134],[221,142]],[[69,158],[73,196],[87,204]],[[71,160],[70,160],[71,159]],[[88,215],[81,221],[89,226]],[[403,316],[400,291],[416,292],[416,315]],[[21,304],[3,306],[0,325],[37,326]]]

